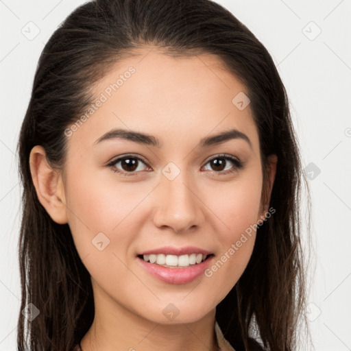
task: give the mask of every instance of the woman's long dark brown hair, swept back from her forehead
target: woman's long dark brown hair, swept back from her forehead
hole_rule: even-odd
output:
[[[42,145],[49,164],[62,169],[67,152],[64,130],[92,103],[89,87],[112,64],[145,45],[173,56],[215,54],[247,87],[264,189],[267,157],[278,156],[269,202],[276,212],[257,229],[250,262],[217,306],[216,319],[237,351],[295,350],[299,326],[307,322],[302,180],[307,190],[308,186],[289,101],[267,49],[232,13],[210,0],[90,1],[73,11],[45,45],[18,145],[23,183],[21,311],[32,303],[40,313],[32,321],[19,313],[18,350],[72,350],[95,312],[90,275],[68,224],[55,223],[38,201],[29,154]]]

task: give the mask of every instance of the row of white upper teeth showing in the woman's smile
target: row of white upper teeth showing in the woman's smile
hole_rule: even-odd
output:
[[[171,267],[189,267],[205,261],[206,255],[190,254],[190,255],[165,255],[165,254],[149,254],[143,255],[146,262],[156,263],[157,265],[171,266]]]

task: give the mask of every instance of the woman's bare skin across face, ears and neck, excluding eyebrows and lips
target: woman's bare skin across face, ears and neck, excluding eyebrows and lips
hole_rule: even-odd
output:
[[[34,185],[53,221],[69,223],[90,272],[95,319],[82,339],[84,351],[214,351],[215,308],[243,274],[256,232],[229,258],[228,250],[268,210],[269,201],[261,201],[258,132],[250,104],[240,110],[232,103],[238,93],[247,95],[246,88],[215,56],[171,58],[149,48],[140,53],[93,86],[95,97],[104,93],[108,99],[67,137],[63,173],[45,162],[43,147],[32,149]],[[106,88],[130,66],[135,73],[108,96]],[[152,135],[162,145],[122,138],[95,143],[113,128]],[[231,138],[200,146],[202,138],[232,129],[250,143]],[[117,162],[127,154],[142,159],[134,171]],[[223,162],[221,154],[243,167],[226,159],[215,168],[210,161]],[[271,184],[276,162],[271,156]],[[179,174],[170,180],[165,169]],[[104,250],[92,243],[99,232],[110,241]],[[213,252],[213,263],[226,253],[228,259],[212,276],[170,284],[137,258],[156,247],[189,245]],[[164,313],[170,303],[179,311],[173,319]]]

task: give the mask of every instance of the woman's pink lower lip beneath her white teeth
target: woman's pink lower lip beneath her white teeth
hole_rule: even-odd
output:
[[[204,274],[214,256],[208,257],[204,262],[184,268],[167,268],[154,263],[145,262],[143,258],[137,257],[138,261],[152,276],[169,284],[187,284]]]

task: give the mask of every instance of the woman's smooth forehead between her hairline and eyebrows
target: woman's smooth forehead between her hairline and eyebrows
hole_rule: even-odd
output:
[[[139,50],[112,65],[91,91],[93,107],[74,133],[90,146],[112,128],[162,140],[167,133],[179,143],[231,128],[257,138],[250,104],[244,109],[236,104],[247,88],[215,55],[172,57],[153,48]]]

